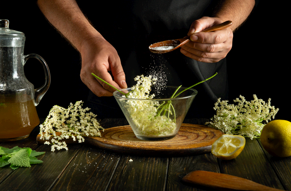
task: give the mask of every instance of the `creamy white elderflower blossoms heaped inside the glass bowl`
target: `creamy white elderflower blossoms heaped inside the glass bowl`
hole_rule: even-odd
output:
[[[158,108],[161,108],[159,107],[160,104],[158,101],[150,101],[155,96],[150,94],[151,86],[156,83],[157,78],[152,78],[151,75],[141,75],[134,80],[137,81],[137,84],[132,87],[128,98],[143,100],[126,100],[124,108],[126,108],[130,120],[134,123],[135,133],[142,136],[172,135],[176,130],[175,119],[172,120],[165,114],[157,115]]]

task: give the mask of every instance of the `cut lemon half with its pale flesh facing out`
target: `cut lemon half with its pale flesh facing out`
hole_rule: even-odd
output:
[[[223,160],[236,158],[245,147],[245,138],[240,135],[221,135],[213,144],[212,154]]]

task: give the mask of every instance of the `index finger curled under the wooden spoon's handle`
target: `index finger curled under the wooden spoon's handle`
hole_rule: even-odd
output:
[[[232,39],[233,34],[231,29],[223,29],[213,32],[197,32],[190,36],[190,40],[193,42],[219,44],[225,42],[227,39]]]

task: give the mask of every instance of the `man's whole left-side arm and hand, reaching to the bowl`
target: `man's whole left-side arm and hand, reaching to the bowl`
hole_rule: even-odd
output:
[[[90,24],[75,0],[38,0],[37,4],[50,23],[81,53],[80,77],[94,94],[112,96],[115,90],[91,73],[117,89],[127,88],[115,48]],[[108,73],[110,70],[114,80]]]

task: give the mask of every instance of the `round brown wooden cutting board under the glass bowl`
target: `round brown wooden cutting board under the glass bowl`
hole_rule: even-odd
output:
[[[204,125],[185,124],[178,134],[165,141],[143,141],[134,135],[129,125],[112,127],[101,132],[101,137],[85,137],[85,143],[116,152],[130,154],[191,155],[211,151],[212,143],[223,135],[220,130]],[[47,141],[47,140],[45,140]],[[37,135],[37,143],[43,144]],[[78,143],[72,138],[64,139],[68,143]]]

